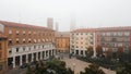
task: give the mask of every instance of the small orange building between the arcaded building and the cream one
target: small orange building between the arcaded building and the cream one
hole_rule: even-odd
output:
[[[56,50],[57,52],[69,52],[70,50],[70,33],[56,33]]]

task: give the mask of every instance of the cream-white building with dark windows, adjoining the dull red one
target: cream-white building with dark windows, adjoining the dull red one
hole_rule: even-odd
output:
[[[81,28],[72,30],[70,34],[70,53],[86,55],[88,47],[93,47],[94,55],[95,51],[95,29],[93,28]]]

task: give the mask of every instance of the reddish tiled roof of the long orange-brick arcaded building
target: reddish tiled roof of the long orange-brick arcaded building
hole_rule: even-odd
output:
[[[24,28],[38,28],[38,29],[47,29],[47,30],[52,30],[48,27],[43,27],[43,26],[34,26],[34,25],[28,25],[28,24],[21,24],[21,23],[14,23],[14,22],[7,22],[7,21],[0,21],[0,24],[4,26],[13,26],[13,27],[24,27]]]

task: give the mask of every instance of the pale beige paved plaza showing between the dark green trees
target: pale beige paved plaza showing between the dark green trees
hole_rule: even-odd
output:
[[[80,72],[84,71],[84,67],[88,66],[88,64],[90,64],[87,62],[78,60],[75,58],[72,58],[72,59],[63,58],[62,61],[66,61],[67,67],[71,67],[74,71],[74,74],[80,74]],[[100,69],[103,69],[103,71],[106,74],[116,74],[115,71],[110,71],[110,70],[107,70],[107,69],[104,69],[104,67],[100,67]]]

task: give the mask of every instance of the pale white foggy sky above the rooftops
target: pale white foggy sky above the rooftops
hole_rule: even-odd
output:
[[[76,27],[131,26],[131,0],[0,0],[0,20],[47,26],[47,17],[69,30]]]

